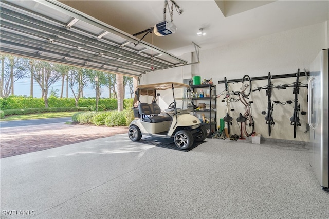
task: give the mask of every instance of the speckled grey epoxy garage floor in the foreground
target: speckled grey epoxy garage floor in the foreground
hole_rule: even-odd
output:
[[[0,159],[1,218],[328,218],[308,157],[250,139],[189,152],[126,134],[80,142]]]

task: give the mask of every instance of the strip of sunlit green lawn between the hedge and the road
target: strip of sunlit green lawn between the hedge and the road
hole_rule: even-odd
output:
[[[48,119],[59,117],[71,117],[77,112],[52,112],[52,113],[38,113],[38,114],[26,114],[26,115],[13,115],[5,116],[1,121],[13,121],[13,120],[26,120],[26,119]]]

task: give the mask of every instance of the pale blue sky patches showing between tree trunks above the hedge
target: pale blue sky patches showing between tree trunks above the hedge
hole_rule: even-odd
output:
[[[30,81],[31,78],[22,78],[17,80],[14,83],[14,95],[30,96]],[[48,95],[50,95],[51,87],[54,90],[57,90],[58,96],[61,95],[61,87],[62,87],[61,81],[54,83],[50,86]],[[126,93],[125,96],[127,98],[130,98],[129,87],[125,88],[125,93]],[[63,96],[66,97],[66,83],[64,83]],[[83,97],[95,97],[95,96],[96,96],[96,91],[95,89],[93,89],[93,86],[91,84],[88,84],[87,87],[83,88]],[[102,87],[101,97],[108,98],[108,96],[109,96],[109,89],[107,87]],[[37,97],[37,98],[41,97],[41,88],[39,84],[36,82],[33,83],[33,97]],[[69,98],[74,97],[70,88],[68,88],[68,97]]]

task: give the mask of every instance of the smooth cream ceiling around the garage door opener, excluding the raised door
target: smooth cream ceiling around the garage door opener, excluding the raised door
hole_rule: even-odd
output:
[[[163,20],[163,0],[60,1],[129,34]],[[148,34],[143,40],[177,56],[195,51],[192,42],[202,50],[329,20],[329,1],[175,2],[183,10],[179,15],[174,8],[176,33],[163,37]],[[170,0],[168,3],[171,6]],[[168,9],[166,17],[170,20]],[[199,28],[205,36],[196,35]]]

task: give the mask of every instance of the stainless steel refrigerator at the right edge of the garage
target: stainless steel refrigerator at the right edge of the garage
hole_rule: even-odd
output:
[[[308,81],[308,124],[310,126],[310,165],[323,190],[329,191],[328,94],[329,49],[323,49],[310,65]]]

